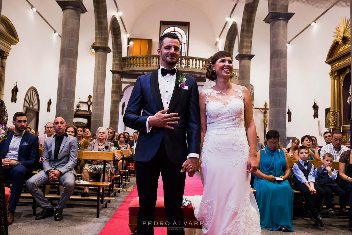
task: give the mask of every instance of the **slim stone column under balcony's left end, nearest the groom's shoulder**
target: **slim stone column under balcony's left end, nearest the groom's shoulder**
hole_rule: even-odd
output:
[[[112,72],[111,105],[110,105],[110,126],[118,131],[119,110],[121,94],[121,73],[122,70],[110,70]]]

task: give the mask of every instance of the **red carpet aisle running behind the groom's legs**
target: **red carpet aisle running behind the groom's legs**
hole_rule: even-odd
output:
[[[203,186],[202,181],[195,175],[193,178],[187,175],[186,186],[184,189],[185,196],[202,195]],[[161,175],[159,177],[158,197],[163,197],[163,181]],[[131,230],[128,227],[128,205],[133,198],[138,197],[137,186],[128,194],[125,200],[121,203],[119,208],[115,211],[114,215],[106,223],[105,227],[101,230],[99,235],[128,235]],[[154,228],[155,235],[166,234],[166,228]]]

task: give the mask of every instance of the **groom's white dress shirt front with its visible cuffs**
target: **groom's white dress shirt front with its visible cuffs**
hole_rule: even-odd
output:
[[[176,67],[177,66],[175,66],[174,68],[176,68]],[[160,68],[158,69],[159,91],[160,91],[160,96],[161,96],[161,100],[163,102],[164,109],[167,109],[169,107],[169,105],[170,105],[170,100],[171,100],[171,97],[172,97],[172,93],[174,93],[174,87],[175,87],[175,83],[176,83],[176,73],[174,75],[168,73],[165,76],[162,76],[161,75],[161,69],[162,68],[164,68],[164,67],[160,66]],[[177,68],[176,68],[176,70],[177,70]],[[149,118],[150,117],[151,116],[149,116],[147,118],[147,123],[146,123],[147,133],[153,127],[153,126],[149,126]],[[199,154],[190,153],[188,155],[188,157],[197,157],[197,158],[199,158]]]

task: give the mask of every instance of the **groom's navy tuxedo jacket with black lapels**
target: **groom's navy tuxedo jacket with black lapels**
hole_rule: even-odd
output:
[[[177,70],[176,79],[180,75]],[[171,125],[174,127],[173,130],[153,126],[147,133],[147,118],[164,110],[159,90],[158,70],[137,78],[123,118],[126,126],[139,130],[133,160],[143,162],[151,160],[163,139],[166,153],[175,164],[182,164],[189,153],[200,153],[198,85],[195,78],[186,75],[186,79],[188,89],[178,88],[175,83],[169,105],[168,113],[178,113],[180,117],[178,124]]]

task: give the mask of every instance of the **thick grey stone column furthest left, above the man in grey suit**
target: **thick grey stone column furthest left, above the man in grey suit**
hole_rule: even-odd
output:
[[[80,19],[87,9],[82,1],[56,2],[63,13],[55,116],[63,117],[67,124],[73,124]]]

